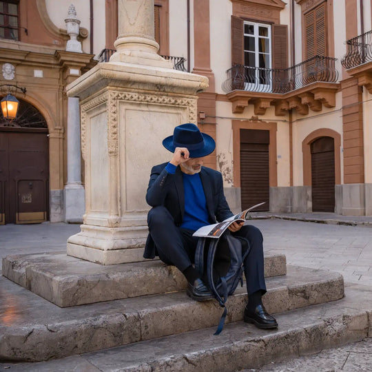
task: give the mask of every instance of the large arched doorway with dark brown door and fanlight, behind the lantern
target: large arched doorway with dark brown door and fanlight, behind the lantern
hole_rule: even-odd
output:
[[[48,220],[48,126],[43,115],[19,99],[17,118],[0,118],[0,225]]]

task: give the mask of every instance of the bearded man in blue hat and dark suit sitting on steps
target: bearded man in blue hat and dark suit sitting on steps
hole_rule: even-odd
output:
[[[175,127],[163,146],[172,152],[172,158],[152,168],[146,194],[152,209],[147,217],[149,236],[143,256],[158,256],[166,264],[175,265],[187,279],[187,295],[196,301],[209,300],[213,296],[193,266],[198,238],[192,234],[233,215],[223,193],[222,175],[203,167],[203,158],[214,151],[216,144],[196,125],[187,123]],[[252,225],[236,222],[229,230],[247,238],[251,247],[244,261],[248,293],[244,320],[262,329],[277,328],[278,323],[261,300],[266,293],[262,234]]]

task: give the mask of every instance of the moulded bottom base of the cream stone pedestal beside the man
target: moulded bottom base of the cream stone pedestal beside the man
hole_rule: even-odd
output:
[[[101,265],[145,261],[147,234],[147,226],[81,225],[81,232],[68,238],[67,254]]]

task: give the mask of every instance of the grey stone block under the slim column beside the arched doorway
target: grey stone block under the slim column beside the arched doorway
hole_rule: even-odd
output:
[[[83,185],[67,184],[63,189],[65,199],[65,222],[83,223],[85,213],[85,190]]]

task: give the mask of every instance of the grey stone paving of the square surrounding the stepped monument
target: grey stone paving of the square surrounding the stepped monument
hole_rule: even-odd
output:
[[[285,254],[289,265],[338,271],[344,276],[346,285],[372,286],[372,218],[361,218],[362,225],[345,224],[345,220],[341,220],[342,225],[337,225],[334,222],[337,218],[331,216],[331,219],[332,223],[310,223],[260,216],[249,223],[261,229],[265,250]],[[61,251],[65,249],[68,237],[79,231],[79,225],[64,223],[0,226],[0,256]],[[258,371],[372,371],[371,355],[372,338],[369,338],[316,355],[269,364]],[[69,364],[68,360],[73,361],[74,357],[67,358],[67,364],[61,360],[55,371],[72,371],[73,362]],[[22,363],[15,367],[14,364],[0,363],[0,371],[15,371],[18,367],[23,371],[35,371],[32,364]]]

